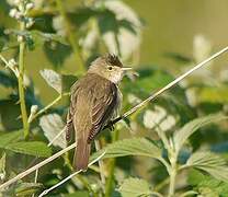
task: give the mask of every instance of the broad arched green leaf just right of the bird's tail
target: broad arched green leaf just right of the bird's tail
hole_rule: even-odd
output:
[[[105,154],[102,159],[105,158],[118,158],[126,155],[142,155],[155,159],[161,158],[161,149],[156,144],[149,141],[146,138],[130,138],[118,140],[114,143],[109,144],[101,151],[98,151],[91,157],[91,161],[98,155],[102,154],[105,151]]]

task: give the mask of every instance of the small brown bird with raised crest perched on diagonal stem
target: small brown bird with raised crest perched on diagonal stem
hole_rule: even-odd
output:
[[[129,69],[123,67],[117,56],[107,54],[95,59],[87,74],[72,85],[67,130],[73,128],[76,132],[73,167],[77,171],[87,170],[91,142],[117,116],[122,102],[117,84]]]

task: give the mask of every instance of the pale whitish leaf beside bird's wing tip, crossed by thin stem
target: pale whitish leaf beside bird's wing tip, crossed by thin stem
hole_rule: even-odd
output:
[[[44,135],[47,137],[49,141],[64,129],[65,124],[61,120],[61,117],[58,114],[48,114],[42,116],[39,119],[39,126],[44,130]],[[54,142],[54,146],[58,146],[60,148],[67,147],[66,134],[62,132]]]

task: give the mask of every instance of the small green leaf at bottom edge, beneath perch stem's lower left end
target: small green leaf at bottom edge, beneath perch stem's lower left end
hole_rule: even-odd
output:
[[[15,194],[16,196],[27,196],[36,193],[43,187],[41,183],[21,183],[16,186]]]

